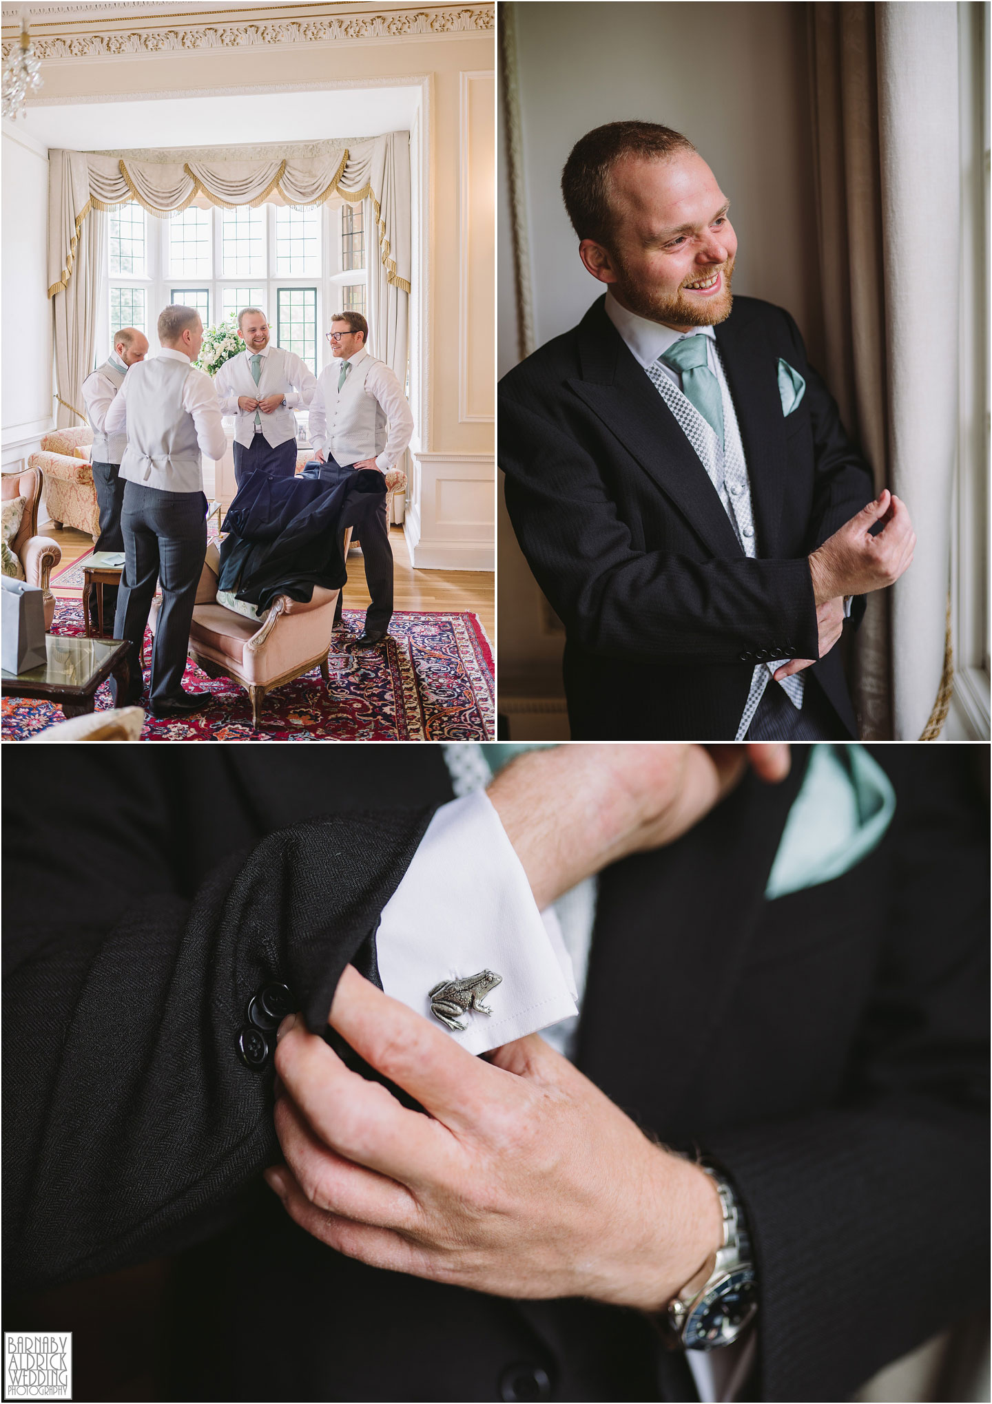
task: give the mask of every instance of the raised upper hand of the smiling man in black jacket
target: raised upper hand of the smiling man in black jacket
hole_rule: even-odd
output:
[[[871,535],[875,522],[882,524]],[[892,585],[912,564],[916,534],[905,503],[882,489],[874,503],[844,522],[809,557],[816,604],[864,595]]]

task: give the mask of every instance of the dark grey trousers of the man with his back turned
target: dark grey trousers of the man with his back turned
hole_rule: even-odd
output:
[[[115,696],[114,702],[126,706],[141,696],[141,656],[157,581],[162,581],[162,612],[155,633],[149,696],[153,703],[169,702],[183,691],[192,607],[207,555],[207,498],[202,493],[164,493],[128,482],[121,531],[124,574],[114,637],[131,643],[132,684],[131,696]]]

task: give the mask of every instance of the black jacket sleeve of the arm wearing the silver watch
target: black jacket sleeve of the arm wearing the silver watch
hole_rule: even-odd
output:
[[[988,800],[915,760],[843,1101],[705,1146],[752,1227],[762,1400],[849,1398],[988,1290]]]

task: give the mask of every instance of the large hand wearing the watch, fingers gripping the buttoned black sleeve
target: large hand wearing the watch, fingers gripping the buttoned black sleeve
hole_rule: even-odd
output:
[[[347,967],[330,1024],[430,1115],[291,1016],[275,1067],[291,1217],[350,1258],[507,1297],[662,1309],[722,1241],[703,1171],[531,1035],[472,1057]]]

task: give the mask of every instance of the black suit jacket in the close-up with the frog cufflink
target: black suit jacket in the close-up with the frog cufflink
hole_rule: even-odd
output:
[[[271,1071],[235,1052],[244,1005],[285,979],[319,1028],[344,960],[374,973],[378,911],[451,793],[436,747],[396,751],[11,753],[7,1286],[183,1250],[173,1400],[691,1397],[637,1313],[365,1268],[260,1184],[278,1148]],[[804,760],[603,875],[579,1049],[646,1130],[735,1178],[763,1400],[844,1398],[985,1289],[971,758],[884,748],[882,845],[769,903]]]

